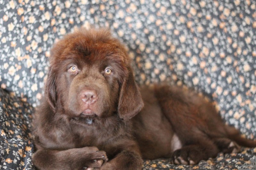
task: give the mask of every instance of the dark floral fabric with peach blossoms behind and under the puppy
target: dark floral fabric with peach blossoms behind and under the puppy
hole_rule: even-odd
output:
[[[0,169],[34,169],[31,118],[55,41],[79,26],[109,27],[126,44],[138,84],[168,81],[212,99],[223,121],[256,138],[256,2],[250,0],[0,0]],[[256,148],[195,166],[237,169]]]

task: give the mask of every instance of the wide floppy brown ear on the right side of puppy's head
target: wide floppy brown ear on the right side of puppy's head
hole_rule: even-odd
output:
[[[125,120],[131,119],[144,106],[139,87],[136,85],[132,69],[129,67],[129,76],[121,86],[118,102],[118,116]]]

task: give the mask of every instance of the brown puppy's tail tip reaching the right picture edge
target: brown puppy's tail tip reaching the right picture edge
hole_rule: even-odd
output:
[[[241,137],[240,132],[232,126],[225,126],[228,138],[246,147],[256,147],[256,141]]]

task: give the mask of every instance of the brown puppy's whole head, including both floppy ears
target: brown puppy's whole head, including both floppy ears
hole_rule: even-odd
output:
[[[45,95],[69,117],[127,120],[143,107],[124,46],[105,29],[80,29],[51,51]]]

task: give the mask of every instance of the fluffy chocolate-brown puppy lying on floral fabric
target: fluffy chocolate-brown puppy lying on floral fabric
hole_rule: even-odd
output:
[[[194,92],[141,89],[124,46],[108,30],[81,28],[65,36],[52,48],[45,99],[33,120],[33,163],[39,169],[134,170],[142,158],[194,165],[237,152],[238,144],[256,146]]]

